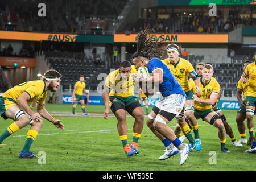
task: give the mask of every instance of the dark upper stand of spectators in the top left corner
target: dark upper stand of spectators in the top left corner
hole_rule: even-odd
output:
[[[47,16],[39,18],[38,4],[47,3]],[[92,20],[101,20],[108,30],[109,24],[117,19],[125,0],[88,1],[15,1],[0,3],[0,29],[26,32],[84,32],[91,30]],[[36,7],[36,8],[35,8]],[[93,32],[94,33],[94,32]]]

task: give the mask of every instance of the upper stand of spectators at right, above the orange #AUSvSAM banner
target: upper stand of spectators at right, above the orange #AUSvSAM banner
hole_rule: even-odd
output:
[[[242,16],[241,14],[245,13],[237,9],[229,10],[228,16],[224,16],[221,10],[217,10],[216,17],[208,16],[208,12],[192,11],[184,13],[165,12],[169,18],[139,18],[134,23],[127,23],[124,32],[136,33],[144,28],[149,28],[152,32],[159,33],[218,33],[233,31],[237,26],[256,25],[255,18]]]

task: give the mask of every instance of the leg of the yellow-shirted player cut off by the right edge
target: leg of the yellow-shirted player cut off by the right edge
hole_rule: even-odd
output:
[[[247,145],[253,144],[253,140],[254,140],[253,116],[254,116],[254,111],[255,111],[255,98],[256,97],[250,97],[250,96],[246,97],[245,111],[246,111],[246,118],[247,118],[247,127],[248,127],[248,130],[249,130],[249,139],[248,139]]]

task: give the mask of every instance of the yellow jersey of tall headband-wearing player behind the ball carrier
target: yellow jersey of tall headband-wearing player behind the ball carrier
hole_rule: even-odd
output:
[[[172,74],[174,74],[177,81],[179,81],[180,86],[184,92],[191,90],[191,86],[188,84],[188,76],[189,73],[194,71],[192,64],[181,57],[179,57],[179,61],[177,61],[175,65],[170,63],[169,58],[162,61],[164,64],[171,68]]]

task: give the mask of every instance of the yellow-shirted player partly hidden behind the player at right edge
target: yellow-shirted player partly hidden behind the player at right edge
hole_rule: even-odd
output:
[[[245,68],[250,63],[251,63],[251,61],[245,61],[245,64],[243,64],[243,71],[245,71]],[[247,143],[246,134],[245,134],[245,123],[243,121],[245,121],[245,119],[246,119],[245,104],[246,104],[248,85],[249,85],[249,80],[245,84],[243,84],[241,79],[238,81],[238,84],[237,84],[237,100],[240,102],[240,108],[237,111],[236,122],[237,122],[238,131],[241,136],[241,139],[239,140],[239,142],[241,144]],[[243,99],[242,99],[242,93],[243,93]],[[255,111],[254,111],[254,115],[255,115]],[[247,120],[247,121],[249,121],[249,120]],[[249,125],[247,123],[247,126],[249,126]],[[248,127],[248,129],[250,130],[249,127]]]

